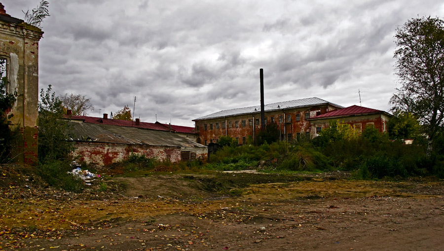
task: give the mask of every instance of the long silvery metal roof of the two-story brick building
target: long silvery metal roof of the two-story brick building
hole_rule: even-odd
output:
[[[273,110],[282,110],[282,109],[298,108],[298,107],[321,105],[321,104],[331,104],[331,105],[336,106],[338,108],[343,107],[343,106],[334,104],[332,102],[326,101],[324,99],[320,99],[318,97],[309,97],[309,98],[302,98],[302,99],[266,104],[264,106],[264,110],[265,110],[265,112],[267,112],[267,111],[273,111]],[[216,113],[213,113],[210,115],[206,115],[206,116],[197,118],[193,121],[221,118],[221,117],[225,117],[225,116],[234,116],[234,115],[241,115],[241,114],[248,114],[248,113],[260,113],[260,105],[243,107],[243,108],[235,108],[235,109],[230,109],[230,110],[223,110],[220,112],[216,112]]]

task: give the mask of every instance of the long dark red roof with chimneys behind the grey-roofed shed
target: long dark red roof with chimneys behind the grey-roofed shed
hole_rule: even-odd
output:
[[[127,121],[127,120],[114,120],[114,119],[103,119],[103,118],[89,117],[89,116],[70,116],[70,115],[64,115],[64,117],[66,119],[71,119],[71,120],[82,120],[84,123],[91,123],[91,124],[128,126],[128,127],[145,128],[145,129],[159,130],[159,131],[170,130],[170,125],[162,124],[159,122],[156,123],[140,122],[139,125],[136,125],[136,122]],[[195,133],[194,127],[189,127],[189,126],[171,125],[171,131],[183,132],[183,133]]]

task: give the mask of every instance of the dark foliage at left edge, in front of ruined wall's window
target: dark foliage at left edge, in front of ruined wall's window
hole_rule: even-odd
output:
[[[12,127],[9,119],[13,114],[7,114],[17,98],[17,92],[7,93],[6,61],[0,60],[0,163],[8,162],[12,150],[16,147],[15,138],[18,136],[19,127]],[[12,129],[11,129],[12,128]]]

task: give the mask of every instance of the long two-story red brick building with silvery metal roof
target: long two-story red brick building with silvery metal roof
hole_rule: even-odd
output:
[[[265,124],[276,123],[281,140],[312,137],[315,132],[311,131],[308,119],[341,108],[317,97],[267,104],[264,107]],[[260,105],[223,110],[193,121],[198,143],[217,143],[219,137],[226,135],[234,137],[238,144],[253,143],[261,127]]]

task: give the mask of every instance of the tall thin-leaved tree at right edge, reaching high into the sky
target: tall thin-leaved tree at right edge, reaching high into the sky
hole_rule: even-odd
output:
[[[419,120],[430,152],[444,122],[444,21],[413,18],[397,29],[395,43],[402,87],[390,99],[392,110],[410,112]]]

